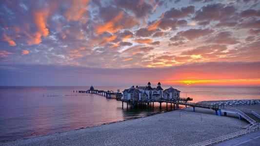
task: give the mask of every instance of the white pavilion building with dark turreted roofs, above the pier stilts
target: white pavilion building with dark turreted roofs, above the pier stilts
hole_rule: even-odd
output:
[[[123,91],[123,99],[138,101],[138,100],[160,100],[160,99],[175,99],[180,98],[180,91],[170,87],[163,91],[160,87],[160,82],[157,88],[152,88],[150,82],[146,87],[134,87]]]

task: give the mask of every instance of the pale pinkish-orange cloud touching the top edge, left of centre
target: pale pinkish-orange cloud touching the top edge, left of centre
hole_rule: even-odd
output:
[[[65,16],[67,20],[79,20],[82,18],[84,12],[88,9],[86,6],[89,0],[73,0],[71,7],[66,12]],[[82,23],[85,23],[86,20],[82,20]]]

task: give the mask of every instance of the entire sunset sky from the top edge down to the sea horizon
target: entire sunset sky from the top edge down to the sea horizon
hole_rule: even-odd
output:
[[[1,0],[0,86],[260,86],[260,0]]]

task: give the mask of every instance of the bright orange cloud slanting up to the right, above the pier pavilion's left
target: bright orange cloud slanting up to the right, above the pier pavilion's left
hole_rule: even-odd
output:
[[[123,18],[123,14],[124,12],[121,11],[117,17],[109,20],[108,22],[98,25],[96,27],[96,33],[97,34],[101,34],[103,32],[110,32],[110,33],[115,33],[120,29],[120,25],[119,26],[115,26],[115,23],[118,22],[121,18]]]

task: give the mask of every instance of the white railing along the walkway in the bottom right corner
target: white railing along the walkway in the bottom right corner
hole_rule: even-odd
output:
[[[255,124],[254,126],[252,126],[250,128],[247,128],[245,130],[241,130],[241,131],[238,131],[238,132],[234,132],[234,133],[231,133],[231,134],[220,136],[220,137],[217,137],[217,138],[214,138],[214,139],[211,139],[211,140],[207,140],[207,141],[204,141],[204,142],[200,142],[200,143],[197,143],[197,144],[193,144],[193,145],[190,145],[190,146],[208,146],[208,145],[218,144],[218,143],[221,143],[225,140],[236,138],[236,137],[245,135],[247,133],[255,132],[255,131],[258,131],[258,130],[260,130],[260,124],[259,123]]]

